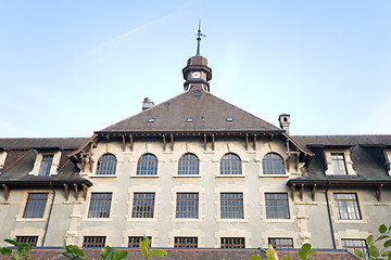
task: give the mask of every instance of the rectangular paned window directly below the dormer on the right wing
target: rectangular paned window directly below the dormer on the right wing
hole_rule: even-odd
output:
[[[335,193],[335,205],[338,219],[360,220],[362,219],[357,196],[355,193]]]

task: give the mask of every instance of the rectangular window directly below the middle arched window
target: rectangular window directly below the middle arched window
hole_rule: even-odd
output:
[[[177,193],[176,218],[198,219],[198,193]]]

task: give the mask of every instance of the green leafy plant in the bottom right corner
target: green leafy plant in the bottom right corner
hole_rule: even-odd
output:
[[[360,249],[355,250],[357,257],[369,260],[381,260],[387,259],[391,260],[391,225],[387,227],[387,225],[381,224],[379,226],[380,236],[375,239],[374,235],[369,235],[366,238],[366,244],[368,246],[368,250],[363,252]],[[384,242],[386,239],[386,242]],[[379,249],[379,245],[375,244],[382,243],[382,249]]]

